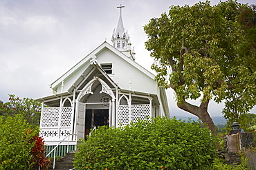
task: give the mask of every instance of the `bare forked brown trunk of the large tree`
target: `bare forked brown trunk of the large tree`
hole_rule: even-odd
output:
[[[177,103],[177,106],[180,109],[183,109],[184,111],[188,111],[190,114],[194,114],[194,116],[197,116],[202,120],[203,123],[206,124],[208,129],[212,132],[212,134],[216,135],[215,126],[212,121],[212,118],[210,117],[210,114],[208,113],[208,104],[209,100],[202,102],[201,105],[195,106],[191,105],[190,103],[187,103],[185,100],[183,103]]]

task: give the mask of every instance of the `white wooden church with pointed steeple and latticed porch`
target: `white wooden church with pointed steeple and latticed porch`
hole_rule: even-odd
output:
[[[51,84],[53,95],[37,99],[48,106],[42,108],[40,123],[46,145],[55,146],[75,134],[69,139],[75,146],[90,129],[102,125],[120,127],[148,116],[170,118],[165,89],[135,62],[121,12],[111,41],[112,45],[104,41],[57,78]]]

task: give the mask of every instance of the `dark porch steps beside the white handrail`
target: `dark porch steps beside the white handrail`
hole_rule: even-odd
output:
[[[73,169],[73,159],[75,157],[75,151],[66,153],[66,156],[60,158],[55,162],[55,170],[69,170]]]

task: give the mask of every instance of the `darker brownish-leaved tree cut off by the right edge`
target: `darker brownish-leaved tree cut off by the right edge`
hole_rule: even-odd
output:
[[[241,6],[238,9],[237,21],[241,26],[244,35],[243,42],[237,47],[237,63],[244,63],[238,65],[235,69],[240,72],[239,78],[234,79],[236,89],[230,89],[228,94],[228,102],[226,101],[226,108],[223,109],[224,117],[228,119],[228,124],[238,121],[244,123],[244,118],[248,115],[248,109],[255,105],[255,80],[256,80],[256,6]],[[244,72],[244,70],[246,70]],[[243,82],[243,83],[240,83]],[[237,89],[246,92],[240,92],[237,95]],[[233,95],[236,94],[236,95]],[[241,95],[244,95],[241,97]],[[245,104],[244,104],[245,103]],[[244,107],[241,109],[241,107]],[[246,115],[243,115],[246,114]],[[244,127],[246,128],[246,127]]]

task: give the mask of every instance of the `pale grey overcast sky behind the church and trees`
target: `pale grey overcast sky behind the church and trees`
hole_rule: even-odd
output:
[[[196,0],[1,0],[0,100],[8,94],[40,98],[52,94],[48,85],[107,39],[111,43],[120,10],[135,47],[136,62],[150,70],[153,60],[145,50],[143,25],[172,5],[194,5]],[[212,4],[219,1],[214,0]],[[255,0],[240,0],[256,3]],[[167,91],[172,115],[181,111]],[[222,105],[210,103],[211,116],[221,116]],[[255,110],[255,109],[254,109]],[[255,112],[255,111],[254,111]]]

